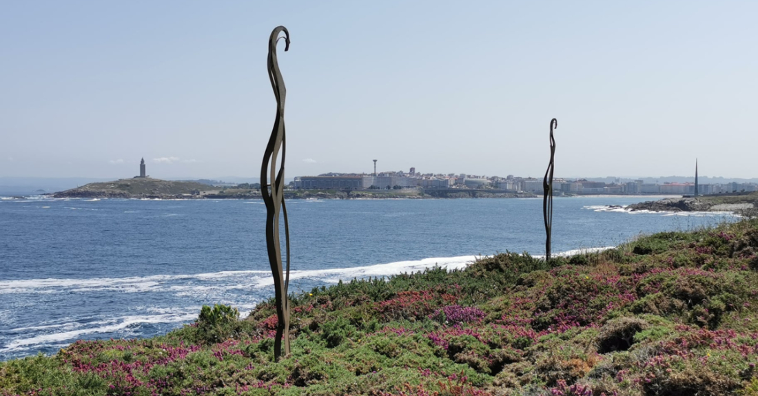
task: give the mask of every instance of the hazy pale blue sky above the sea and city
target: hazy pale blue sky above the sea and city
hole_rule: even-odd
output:
[[[317,4],[318,3],[318,4]],[[0,2],[0,176],[755,177],[758,2]]]

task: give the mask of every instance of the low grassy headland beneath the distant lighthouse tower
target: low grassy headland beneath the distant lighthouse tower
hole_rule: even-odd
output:
[[[214,189],[199,182],[174,182],[150,177],[95,182],[63,192],[55,198],[192,198]]]

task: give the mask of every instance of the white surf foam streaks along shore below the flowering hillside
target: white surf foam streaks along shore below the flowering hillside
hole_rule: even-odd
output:
[[[593,251],[603,251],[606,248],[583,248],[557,253],[556,256],[569,256]],[[539,257],[539,256],[535,256]],[[376,264],[363,267],[333,268],[326,270],[293,270],[290,279],[310,279],[323,283],[336,283],[340,279],[366,278],[368,276],[391,276],[399,273],[421,271],[439,266],[447,270],[460,270],[473,263],[481,256],[430,257],[422,260],[405,260],[393,263]],[[228,282],[233,279],[236,282]],[[239,282],[243,280],[244,282]],[[183,284],[176,284],[184,281]],[[226,282],[224,282],[226,281]],[[212,282],[193,285],[192,282]],[[97,279],[23,279],[0,281],[0,294],[3,293],[70,293],[70,292],[171,292],[175,295],[211,295],[218,304],[231,304],[240,310],[241,317],[249,315],[255,309],[255,301],[224,301],[229,298],[224,292],[232,289],[250,290],[253,288],[271,287],[273,279],[266,270],[219,271],[215,273],[197,273],[189,275],[155,275],[133,276],[124,278]],[[220,295],[215,295],[221,292]],[[0,353],[8,351],[23,351],[45,346],[63,346],[85,335],[116,333],[119,336],[129,336],[136,327],[147,323],[188,323],[196,320],[200,306],[186,307],[136,307],[144,314],[133,314],[105,320],[90,322],[73,321],[64,318],[64,323],[39,323],[38,326],[11,329],[16,335],[27,335],[26,338],[9,339],[5,345],[0,345]],[[40,334],[41,333],[41,334]],[[136,333],[134,333],[136,334]]]

